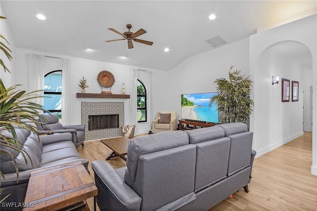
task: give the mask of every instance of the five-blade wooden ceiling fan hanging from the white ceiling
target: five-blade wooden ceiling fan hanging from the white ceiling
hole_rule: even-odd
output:
[[[115,32],[115,33],[121,35],[121,36],[124,37],[124,38],[122,38],[122,39],[117,39],[117,40],[107,40],[106,42],[113,42],[113,41],[119,41],[119,40],[128,40],[128,49],[133,49],[132,40],[134,40],[135,42],[138,42],[138,43],[143,43],[143,44],[152,46],[153,42],[136,39],[136,37],[147,33],[144,29],[140,29],[139,31],[133,33],[133,32],[130,32],[130,29],[132,28],[132,25],[131,25],[131,24],[127,24],[127,28],[129,29],[129,31],[128,31],[128,32],[123,32],[123,34],[120,33],[120,32],[118,32],[118,31],[115,30],[115,29],[108,28],[110,31],[113,31],[113,32]]]

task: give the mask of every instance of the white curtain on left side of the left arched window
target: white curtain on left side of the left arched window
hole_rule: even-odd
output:
[[[43,63],[45,55],[27,53],[25,55],[28,66],[28,92],[34,92],[44,89],[44,71]],[[35,95],[44,96],[44,92],[36,92]],[[33,103],[43,106],[43,98],[30,100]],[[43,112],[43,111],[40,111]]]

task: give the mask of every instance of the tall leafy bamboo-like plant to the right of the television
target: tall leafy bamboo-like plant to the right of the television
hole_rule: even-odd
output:
[[[246,122],[254,105],[250,99],[252,81],[250,76],[241,75],[241,70],[229,71],[229,80],[219,78],[214,81],[218,92],[217,96],[210,99],[210,106],[216,102],[221,123]]]

